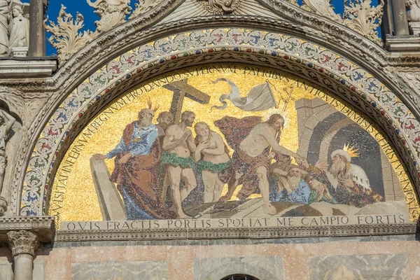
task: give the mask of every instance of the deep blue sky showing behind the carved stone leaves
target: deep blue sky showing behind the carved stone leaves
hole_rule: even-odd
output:
[[[92,0],[92,2],[93,1],[94,0]],[[298,1],[300,1],[300,3],[302,2],[302,0]],[[29,2],[29,0],[23,0],[22,2]],[[134,6],[135,1],[132,0],[131,2],[131,6]],[[373,0],[372,2],[376,5],[377,0]],[[95,20],[99,20],[99,17],[94,13],[94,9],[87,5],[86,0],[50,0],[50,6],[48,6],[47,12],[50,20],[54,22],[57,21],[57,16],[62,4],[67,8],[66,12],[71,13],[73,17],[76,17],[77,11],[83,15],[85,18],[84,29],[90,29],[91,31],[96,29],[94,22]],[[332,0],[332,5],[335,6],[335,12],[342,15],[344,10],[344,0]],[[47,55],[53,55],[55,53],[57,53],[55,48],[52,48],[50,43],[47,43]]]

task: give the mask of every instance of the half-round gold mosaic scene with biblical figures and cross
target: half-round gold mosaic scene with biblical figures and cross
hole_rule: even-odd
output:
[[[407,214],[370,120],[288,73],[176,71],[120,95],[73,141],[60,221]],[[75,149],[77,148],[77,149]],[[63,164],[62,164],[63,165]],[[66,172],[66,173],[65,173]],[[59,186],[60,176],[67,176]]]

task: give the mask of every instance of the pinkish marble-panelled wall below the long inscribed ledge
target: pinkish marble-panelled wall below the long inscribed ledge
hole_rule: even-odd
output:
[[[44,244],[34,279],[420,279],[413,235],[305,239],[102,241]],[[0,248],[0,279],[11,280]]]

